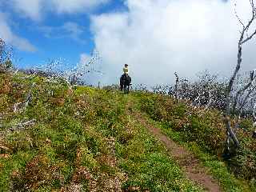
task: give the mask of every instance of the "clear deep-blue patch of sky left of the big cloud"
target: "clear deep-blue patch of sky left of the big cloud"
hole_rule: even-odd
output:
[[[31,1],[26,1],[23,6],[30,6]],[[65,59],[70,65],[76,64],[80,54],[90,54],[94,49],[90,16],[125,10],[126,6],[122,0],[108,1],[82,11],[72,10],[71,13],[46,11],[41,13],[39,20],[24,16],[24,12],[30,9],[33,8],[17,11],[15,5],[0,0],[0,13],[6,15],[12,33],[27,39],[34,46],[32,51],[14,46],[15,65],[23,68],[58,58]]]

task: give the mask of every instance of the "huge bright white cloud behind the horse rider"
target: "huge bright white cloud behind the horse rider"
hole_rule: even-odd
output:
[[[193,78],[210,70],[230,76],[236,64],[238,21],[230,2],[221,0],[126,0],[127,12],[94,15],[91,30],[102,54],[102,82],[118,83],[124,63],[134,82],[174,82],[174,71]],[[249,2],[239,1],[246,21]],[[254,41],[255,42],[255,41]],[[245,46],[242,66],[254,68],[252,42]],[[254,59],[254,62],[253,62]]]

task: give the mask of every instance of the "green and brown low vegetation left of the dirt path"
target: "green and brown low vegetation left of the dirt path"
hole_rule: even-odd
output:
[[[14,112],[33,82],[29,106]],[[127,99],[112,90],[70,90],[62,81],[0,74],[0,191],[202,191],[130,118]],[[31,119],[34,125],[10,130]]]

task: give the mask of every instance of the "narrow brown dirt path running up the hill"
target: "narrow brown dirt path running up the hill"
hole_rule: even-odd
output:
[[[146,129],[154,135],[154,137],[158,138],[166,146],[170,156],[178,162],[178,165],[186,174],[186,178],[198,183],[206,191],[222,191],[218,181],[214,180],[210,174],[207,174],[207,170],[200,166],[198,158],[196,158],[194,154],[191,154],[190,151],[179,146],[165,134],[162,134],[162,131],[158,127],[153,126],[152,123],[142,116],[142,114],[138,112],[131,114],[129,110],[131,105],[132,104],[130,102],[127,103],[127,112],[132,115],[137,122],[142,124],[142,126],[145,126]]]

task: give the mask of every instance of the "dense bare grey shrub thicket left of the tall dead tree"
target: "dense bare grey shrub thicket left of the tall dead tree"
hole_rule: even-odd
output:
[[[194,107],[204,106],[223,110],[225,107],[226,83],[218,79],[218,75],[203,71],[198,74],[198,80],[190,82],[185,78],[179,78],[175,73],[176,82],[170,86],[169,95],[174,98],[189,101]]]

